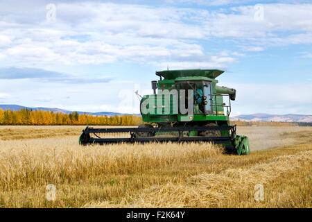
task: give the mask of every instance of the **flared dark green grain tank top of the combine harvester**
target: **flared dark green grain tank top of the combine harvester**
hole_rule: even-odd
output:
[[[162,76],[166,80],[172,80],[178,77],[202,76],[207,78],[216,78],[223,74],[219,69],[182,69],[182,70],[164,70],[156,71],[157,76]]]

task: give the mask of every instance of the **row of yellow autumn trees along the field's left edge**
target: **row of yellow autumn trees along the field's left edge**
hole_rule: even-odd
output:
[[[103,125],[135,126],[142,123],[141,117],[135,115],[94,116],[91,114],[64,114],[61,112],[28,110],[17,111],[0,109],[0,125],[53,126],[53,125]]]

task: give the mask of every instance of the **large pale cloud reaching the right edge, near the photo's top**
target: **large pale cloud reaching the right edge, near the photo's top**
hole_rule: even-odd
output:
[[[207,22],[218,37],[268,37],[279,32],[311,32],[312,4],[262,4],[263,19],[255,19],[254,6],[233,7],[227,13],[211,13]],[[211,21],[212,20],[212,21]],[[285,33],[283,33],[285,35]]]

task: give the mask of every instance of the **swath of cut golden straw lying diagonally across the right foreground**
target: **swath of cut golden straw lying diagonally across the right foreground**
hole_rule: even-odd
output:
[[[193,176],[184,184],[168,182],[166,185],[153,186],[141,192],[130,202],[128,199],[122,200],[119,205],[104,202],[89,206],[231,207],[228,203],[234,202],[232,207],[238,207],[242,194],[248,194],[245,196],[245,202],[250,204],[248,207],[254,207],[257,203],[254,200],[255,185],[266,187],[270,185],[270,182],[278,180],[285,174],[309,171],[311,164],[312,151],[302,151],[297,155],[275,157],[268,163],[255,164],[248,168],[226,169],[220,173],[202,173]],[[268,196],[266,198],[269,199]],[[311,207],[311,203],[302,207]]]

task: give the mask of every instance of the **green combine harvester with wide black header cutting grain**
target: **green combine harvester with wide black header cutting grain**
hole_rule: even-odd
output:
[[[236,125],[229,125],[231,100],[235,100],[236,90],[216,85],[216,77],[223,72],[218,69],[157,71],[160,80],[152,81],[154,94],[141,97],[140,110],[146,124],[138,128],[87,127],[79,143],[213,142],[223,144],[226,153],[247,155],[248,137],[236,135]],[[128,137],[105,137],[121,133]]]

